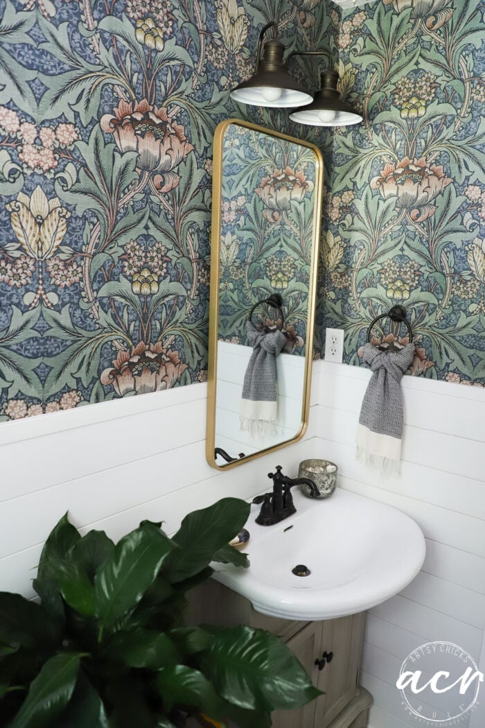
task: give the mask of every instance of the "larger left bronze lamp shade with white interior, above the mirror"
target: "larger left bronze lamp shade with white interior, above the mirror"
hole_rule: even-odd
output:
[[[269,28],[273,28],[273,37],[264,41]],[[274,22],[262,28],[257,41],[256,71],[249,81],[242,82],[231,91],[231,98],[235,101],[276,108],[312,103],[312,96],[288,73],[283,62],[285,46],[278,40],[277,30],[278,25]]]

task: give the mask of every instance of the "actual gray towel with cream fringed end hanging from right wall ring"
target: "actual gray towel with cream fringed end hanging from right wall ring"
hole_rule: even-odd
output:
[[[412,362],[414,344],[397,352],[364,346],[364,362],[372,369],[358,420],[357,457],[382,472],[398,472],[404,425],[401,379]]]

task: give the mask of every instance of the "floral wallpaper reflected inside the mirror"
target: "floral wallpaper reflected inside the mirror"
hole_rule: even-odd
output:
[[[305,354],[316,160],[311,149],[230,124],[223,141],[219,336],[246,343],[257,301],[283,298],[285,352]],[[268,316],[266,319],[265,316]],[[279,323],[261,306],[253,322]]]

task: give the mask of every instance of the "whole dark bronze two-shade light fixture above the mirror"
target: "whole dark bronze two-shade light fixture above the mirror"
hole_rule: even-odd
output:
[[[273,37],[265,41],[269,28],[273,28]],[[340,98],[337,90],[339,77],[332,67],[321,74],[321,89],[316,92],[315,98],[288,72],[287,63],[294,55],[324,55],[332,63],[330,54],[326,51],[293,51],[284,63],[285,47],[276,35],[277,29],[274,22],[262,28],[257,42],[256,71],[248,81],[231,91],[231,97],[250,106],[301,106],[295,108],[289,118],[314,127],[344,127],[361,122],[361,114]]]

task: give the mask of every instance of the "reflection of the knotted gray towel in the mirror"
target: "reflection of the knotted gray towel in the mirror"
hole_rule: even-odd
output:
[[[239,419],[241,430],[257,435],[271,432],[278,416],[276,357],[286,336],[281,331],[259,331],[251,321],[246,334],[253,350],[244,375]]]

